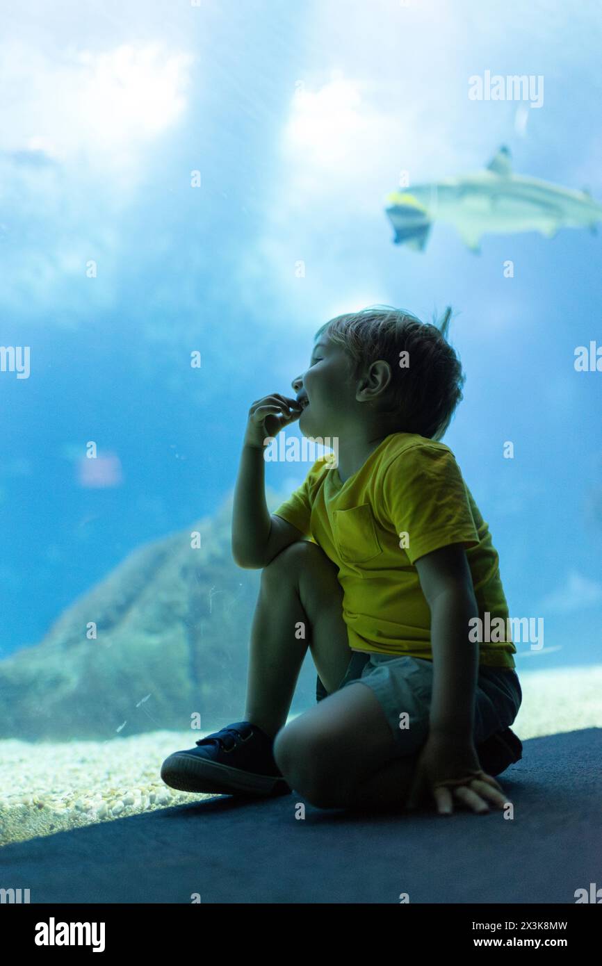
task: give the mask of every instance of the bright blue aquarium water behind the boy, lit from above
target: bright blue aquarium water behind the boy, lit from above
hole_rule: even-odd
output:
[[[506,0],[12,10],[0,344],[29,346],[31,372],[0,373],[0,657],[212,514],[251,402],[289,394],[324,322],[379,302],[459,313],[444,442],[510,613],[545,617],[550,651],[520,667],[599,663],[602,372],[574,352],[602,345],[602,229],[485,236],[474,255],[436,224],[417,253],[384,208],[400,170],[473,171],[502,144],[516,172],[602,201],[601,41],[596,5]],[[543,76],[542,106],[469,99],[484,71]],[[81,484],[88,440],[121,467],[112,485]],[[289,492],[307,469],[267,481]]]

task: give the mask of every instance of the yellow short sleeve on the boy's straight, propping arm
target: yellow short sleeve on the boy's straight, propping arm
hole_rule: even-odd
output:
[[[383,504],[397,534],[408,534],[410,562],[448,544],[478,544],[471,504],[451,450],[416,445],[387,466]],[[401,539],[401,537],[400,537]]]

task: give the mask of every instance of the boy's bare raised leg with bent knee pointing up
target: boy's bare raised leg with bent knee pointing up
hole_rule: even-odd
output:
[[[336,568],[315,544],[297,541],[263,569],[244,721],[271,737],[286,724],[307,647],[327,691],[338,688],[352,656],[342,603]]]

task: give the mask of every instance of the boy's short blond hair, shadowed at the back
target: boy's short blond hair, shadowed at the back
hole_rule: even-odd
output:
[[[358,378],[361,369],[377,359],[391,367],[379,412],[399,414],[399,433],[417,433],[429,440],[444,437],[466,377],[458,356],[446,339],[451,308],[442,320],[420,322],[411,312],[392,305],[373,305],[359,312],[337,315],[315,335],[326,335],[349,354]],[[403,368],[400,353],[408,353]]]

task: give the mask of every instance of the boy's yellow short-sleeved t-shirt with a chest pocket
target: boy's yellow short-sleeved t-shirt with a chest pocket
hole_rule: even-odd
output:
[[[352,650],[432,661],[430,608],[415,563],[463,543],[484,630],[491,626],[486,611],[492,623],[503,620],[501,641],[478,643],[479,665],[515,668],[499,556],[449,446],[391,433],[344,483],[333,460],[331,453],[316,460],[274,513],[339,568]],[[487,636],[498,636],[495,625]]]

